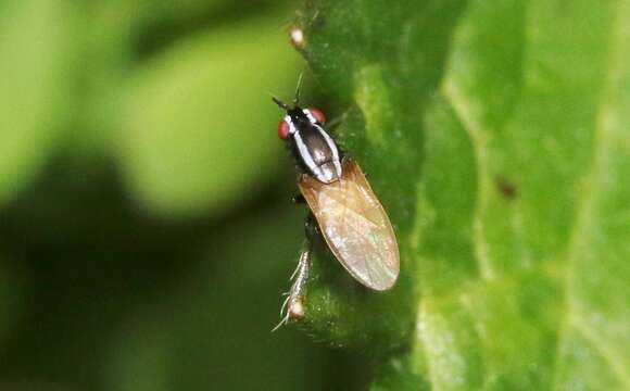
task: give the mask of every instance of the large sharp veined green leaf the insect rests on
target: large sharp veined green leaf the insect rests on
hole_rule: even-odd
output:
[[[375,390],[628,389],[630,7],[320,0],[302,15],[402,255],[379,294],[330,277],[320,249],[310,331],[388,353]]]

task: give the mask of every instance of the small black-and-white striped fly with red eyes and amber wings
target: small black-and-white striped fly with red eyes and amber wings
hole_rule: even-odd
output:
[[[308,277],[311,239],[316,235],[324,238],[348,273],[371,290],[391,289],[400,272],[398,243],[387,213],[358,164],[324,128],[324,113],[300,108],[299,94],[300,81],[292,106],[273,97],[286,111],[278,124],[278,137],[288,144],[300,172],[301,194],[295,201],[305,201],[310,207],[306,240],[280,308],[282,319],[275,329],[289,319],[304,317],[302,291]]]

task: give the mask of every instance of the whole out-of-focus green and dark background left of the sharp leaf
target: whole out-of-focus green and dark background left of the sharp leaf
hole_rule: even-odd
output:
[[[269,330],[305,211],[295,3],[0,2],[0,390],[361,389]]]

